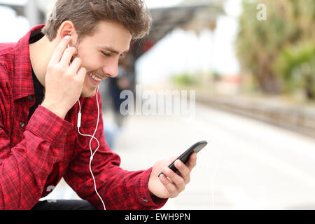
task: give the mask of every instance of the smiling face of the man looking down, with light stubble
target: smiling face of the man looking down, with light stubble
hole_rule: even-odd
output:
[[[102,21],[92,36],[85,36],[76,45],[76,57],[87,69],[82,97],[93,97],[101,80],[117,76],[118,60],[129,50],[131,40],[132,34],[123,25]]]

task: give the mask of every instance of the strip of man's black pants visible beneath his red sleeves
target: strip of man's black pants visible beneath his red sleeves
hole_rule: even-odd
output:
[[[84,200],[39,201],[31,210],[97,210]]]

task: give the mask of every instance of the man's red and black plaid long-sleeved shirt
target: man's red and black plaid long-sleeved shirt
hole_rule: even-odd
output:
[[[31,209],[62,177],[83,199],[102,209],[90,174],[90,138],[78,134],[78,103],[63,120],[35,103],[29,59],[31,29],[18,43],[0,43],[0,209]],[[97,94],[101,102],[100,94]],[[80,98],[80,132],[92,134],[97,124],[96,97]],[[102,104],[102,103],[101,103]],[[100,105],[102,108],[102,105]],[[151,197],[152,168],[128,172],[106,144],[102,113],[95,137],[100,148],[92,161],[97,189],[106,209],[158,209],[167,200]],[[97,144],[93,141],[95,149]]]

